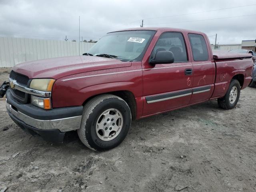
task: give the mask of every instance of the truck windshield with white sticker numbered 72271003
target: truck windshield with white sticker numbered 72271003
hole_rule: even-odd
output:
[[[155,31],[150,30],[108,33],[90,48],[87,53],[94,56],[108,54],[111,58],[125,61],[141,61],[154,34]]]

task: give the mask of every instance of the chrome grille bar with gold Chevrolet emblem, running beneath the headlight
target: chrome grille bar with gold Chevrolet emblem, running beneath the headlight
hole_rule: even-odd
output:
[[[32,94],[32,95],[36,95],[36,96],[41,96],[41,97],[50,97],[52,95],[52,92],[46,92],[46,91],[38,91],[38,90],[34,90],[34,89],[30,89],[28,87],[24,87],[20,84],[17,83],[16,80],[13,80],[11,78],[9,78],[10,83],[14,84],[14,88],[16,90],[28,93],[28,94]],[[11,88],[11,86],[10,86]]]

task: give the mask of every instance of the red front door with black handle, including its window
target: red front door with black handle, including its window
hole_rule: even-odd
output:
[[[143,116],[164,112],[190,102],[192,94],[192,63],[184,36],[180,32],[164,32],[158,38],[150,57],[158,51],[171,51],[174,63],[151,65],[142,63]]]

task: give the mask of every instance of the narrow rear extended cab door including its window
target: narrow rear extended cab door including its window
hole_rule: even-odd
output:
[[[208,100],[214,90],[215,64],[204,34],[188,34],[192,51],[193,93],[190,104]],[[207,42],[207,43],[206,43]]]

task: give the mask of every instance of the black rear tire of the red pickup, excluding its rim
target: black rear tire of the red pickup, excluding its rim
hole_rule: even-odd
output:
[[[230,97],[230,92],[234,86],[236,86],[238,93],[237,93],[235,102],[231,104],[229,101],[229,97]],[[232,79],[225,96],[223,98],[218,98],[218,105],[222,109],[227,109],[227,110],[232,109],[236,106],[239,100],[239,97],[240,97],[240,83],[238,80]]]

